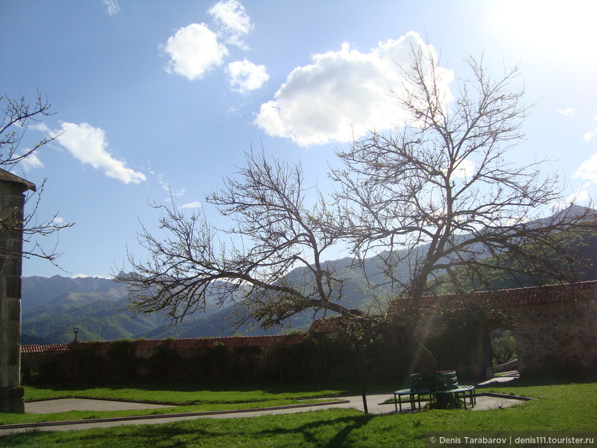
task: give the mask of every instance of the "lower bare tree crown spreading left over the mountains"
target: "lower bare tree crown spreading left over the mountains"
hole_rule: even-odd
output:
[[[173,203],[155,205],[166,237],[144,227],[139,242],[150,259],[130,256],[134,274],[119,276],[131,286],[132,311],[162,310],[177,321],[228,300],[241,310],[235,325],[264,328],[305,309],[353,316],[342,303],[342,279],[323,260],[340,236],[329,231],[333,213],[316,190],[318,204],[307,207],[307,190],[301,165],[270,163],[251,152],[246,167],[206,198],[233,226],[215,229]],[[302,278],[289,278],[299,266]]]

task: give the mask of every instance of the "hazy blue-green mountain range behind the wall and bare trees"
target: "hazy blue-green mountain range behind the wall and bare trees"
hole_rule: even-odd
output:
[[[578,241],[576,241],[578,244]],[[583,280],[597,279],[597,229],[581,241],[583,252],[595,261],[583,272]],[[425,247],[419,248],[425,250]],[[375,259],[366,260],[375,263]],[[361,270],[351,268],[351,259],[327,262],[336,274],[348,279],[344,296],[349,307],[366,307],[366,279]],[[403,267],[406,274],[408,269]],[[302,279],[306,268],[296,268],[288,280]],[[503,285],[501,287],[515,287]],[[234,305],[196,311],[177,325],[159,313],[135,316],[128,311],[129,292],[126,284],[99,277],[69,278],[53,276],[23,277],[22,292],[22,344],[49,344],[71,342],[73,329],[78,328],[78,340],[200,338],[230,335],[227,318],[235,311]],[[313,312],[303,311],[289,322],[290,329],[306,329],[314,318]],[[279,330],[282,331],[282,330]],[[279,331],[264,331],[259,327],[239,327],[235,334],[264,335]],[[288,331],[288,328],[284,329]]]

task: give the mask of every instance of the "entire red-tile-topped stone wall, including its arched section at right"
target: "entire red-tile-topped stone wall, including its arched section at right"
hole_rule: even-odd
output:
[[[460,379],[486,379],[489,334],[515,333],[524,376],[597,373],[597,281],[570,286],[504,290],[425,298],[395,304],[394,326],[364,348],[370,381],[406,384],[421,371],[421,351],[401,319],[434,354],[438,370]],[[413,313],[417,311],[416,313]],[[23,346],[23,375],[45,381],[327,381],[357,379],[353,344],[334,320],[314,322],[309,333],[188,340],[79,342]]]

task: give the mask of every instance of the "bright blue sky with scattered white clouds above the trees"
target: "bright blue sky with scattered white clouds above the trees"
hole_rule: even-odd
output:
[[[25,259],[23,276],[112,276],[145,254],[142,225],[159,232],[151,204],[222,224],[204,196],[250,148],[326,191],[335,150],[399,119],[387,89],[409,45],[433,47],[454,95],[467,56],[495,77],[518,64],[536,105],[512,161],[548,159],[596,197],[596,16],[592,0],[0,0],[0,94],[56,113],[21,150],[58,136],[12,172],[47,179],[40,219],[75,223],[40,239],[60,268]]]

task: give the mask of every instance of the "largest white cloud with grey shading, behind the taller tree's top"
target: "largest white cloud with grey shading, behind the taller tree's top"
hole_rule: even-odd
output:
[[[405,85],[397,63],[408,62],[411,46],[423,47],[436,58],[433,47],[415,32],[379,43],[368,53],[344,43],[340,51],[316,54],[312,64],[288,75],[274,99],[261,104],[255,123],[268,134],[301,146],[351,141],[371,128],[380,131],[404,123],[410,117],[388,88],[399,92]],[[452,99],[447,84],[454,75],[439,71],[447,104]]]

